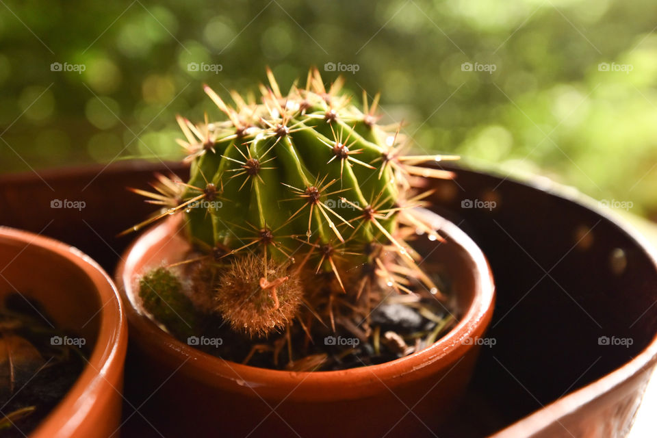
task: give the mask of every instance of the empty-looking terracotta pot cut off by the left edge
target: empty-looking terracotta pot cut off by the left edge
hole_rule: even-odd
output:
[[[127,347],[112,281],[76,248],[0,227],[0,296],[12,292],[40,302],[53,326],[90,346],[88,365],[30,437],[107,438],[119,425]]]

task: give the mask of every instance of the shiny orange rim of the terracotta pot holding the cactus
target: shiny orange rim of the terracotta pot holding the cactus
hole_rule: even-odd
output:
[[[473,348],[472,344],[467,344],[464,340],[476,333],[483,331],[491,320],[492,307],[495,301],[495,287],[493,285],[493,275],[489,264],[482,251],[474,241],[465,232],[461,231],[452,222],[441,218],[432,211],[423,210],[423,214],[428,216],[435,227],[443,231],[443,235],[450,244],[456,244],[472,260],[472,270],[474,271],[474,297],[471,305],[463,314],[453,329],[443,335],[432,346],[425,348],[412,355],[395,359],[386,363],[377,365],[368,365],[359,368],[349,368],[348,370],[337,371],[313,371],[313,372],[291,372],[285,370],[270,370],[268,368],[257,368],[251,365],[243,365],[209,355],[201,350],[197,350],[188,344],[180,342],[178,339],[160,329],[155,322],[149,317],[143,315],[136,309],[133,304],[133,272],[126,272],[126,266],[133,266],[136,261],[140,260],[146,250],[151,248],[157,242],[171,238],[171,230],[176,226],[177,217],[168,218],[160,224],[155,224],[150,229],[144,231],[134,242],[125,250],[125,253],[116,268],[116,284],[119,292],[127,300],[126,313],[132,324],[138,326],[138,331],[146,333],[148,337],[155,339],[151,346],[165,348],[176,355],[186,357],[185,363],[190,361],[192,366],[197,370],[202,370],[207,375],[222,376],[229,378],[240,386],[251,387],[252,389],[260,386],[270,386],[272,381],[285,382],[296,389],[300,383],[305,383],[304,387],[313,387],[319,385],[326,388],[329,385],[335,385],[336,378],[340,383],[346,383],[351,387],[371,385],[372,381],[393,381],[393,385],[402,381],[410,381],[436,371],[435,364],[439,359],[448,358],[442,368],[454,367],[460,360],[465,351]],[[437,242],[437,244],[441,244]],[[128,290],[127,290],[128,289]],[[461,350],[461,351],[457,351]],[[198,360],[194,360],[198,359]],[[182,367],[183,364],[180,364]],[[412,375],[412,376],[411,376]],[[374,379],[372,378],[374,377]],[[296,384],[296,386],[295,386]],[[315,386],[317,389],[318,386]]]

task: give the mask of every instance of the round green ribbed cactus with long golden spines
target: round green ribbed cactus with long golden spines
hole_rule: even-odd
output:
[[[407,243],[416,233],[439,234],[412,207],[424,205],[415,179],[450,178],[418,166],[456,159],[404,155],[409,141],[399,127],[378,125],[378,95],[363,109],[342,92],[342,79],[326,89],[318,70],[304,88],[281,93],[270,70],[261,102],[231,93],[224,102],[205,92],[226,120],[177,121],[185,140],[188,183],[159,176],[157,192],[143,192],[164,210],[133,227],[181,213],[201,255],[181,263],[216,268],[214,312],[235,331],[253,337],[316,318],[330,323],[368,309],[394,289],[441,292],[417,266]],[[366,324],[366,323],[365,323]]]

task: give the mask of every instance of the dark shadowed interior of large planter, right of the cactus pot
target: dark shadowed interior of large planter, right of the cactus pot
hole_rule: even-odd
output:
[[[436,211],[482,248],[498,294],[487,333],[497,342],[482,348],[461,411],[480,418],[472,436],[488,435],[654,342],[657,270],[620,224],[577,199],[455,170],[436,184]]]

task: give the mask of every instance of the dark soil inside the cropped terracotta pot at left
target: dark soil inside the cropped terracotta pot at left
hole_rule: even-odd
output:
[[[45,318],[45,319],[44,319]],[[84,346],[53,329],[38,302],[18,294],[0,306],[0,436],[25,437],[81,374]]]

